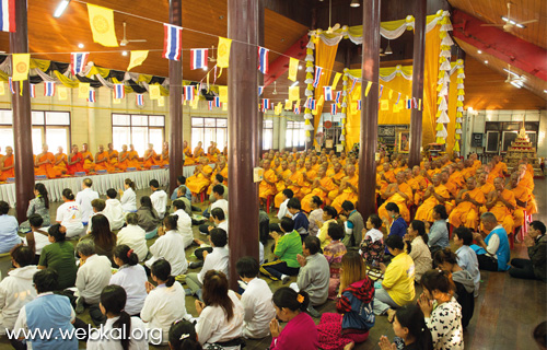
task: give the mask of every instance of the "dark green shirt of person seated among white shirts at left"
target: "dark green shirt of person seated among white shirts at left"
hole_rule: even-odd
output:
[[[74,246],[70,242],[56,242],[42,248],[39,266],[54,269],[59,273],[59,290],[73,287],[75,283]]]

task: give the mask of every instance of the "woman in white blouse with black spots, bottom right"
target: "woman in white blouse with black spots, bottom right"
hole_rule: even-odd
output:
[[[423,293],[418,300],[426,325],[431,331],[433,349],[464,349],[462,306],[454,299],[456,287],[452,276],[443,270],[429,270],[421,278]]]

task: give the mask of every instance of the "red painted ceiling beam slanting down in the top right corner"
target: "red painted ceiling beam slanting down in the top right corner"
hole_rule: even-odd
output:
[[[514,66],[534,77],[547,81],[547,50],[517,38],[476,18],[455,10],[452,15],[454,37],[488,52],[511,66]],[[526,31],[519,30],[515,31]]]

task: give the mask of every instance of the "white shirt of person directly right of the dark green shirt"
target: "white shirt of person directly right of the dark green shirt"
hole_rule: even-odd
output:
[[[86,304],[98,303],[103,288],[108,285],[110,277],[110,259],[104,255],[94,254],[78,269],[75,276],[78,293]]]

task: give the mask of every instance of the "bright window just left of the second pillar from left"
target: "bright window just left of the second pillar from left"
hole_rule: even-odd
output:
[[[152,143],[156,152],[161,152],[165,135],[165,116],[149,115],[112,115],[112,139],[115,150],[124,144],[132,144],[139,154],[143,154],[148,144]]]

